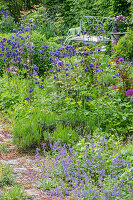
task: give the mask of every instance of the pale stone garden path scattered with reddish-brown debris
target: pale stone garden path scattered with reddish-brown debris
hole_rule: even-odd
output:
[[[17,183],[25,188],[25,195],[31,196],[31,200],[52,200],[48,198],[47,193],[36,187],[38,179],[44,176],[44,173],[37,167],[35,156],[22,155],[18,153],[17,147],[13,144],[12,134],[4,128],[0,122],[0,144],[7,146],[6,154],[0,153],[0,162],[9,165]],[[41,159],[41,158],[40,158]]]

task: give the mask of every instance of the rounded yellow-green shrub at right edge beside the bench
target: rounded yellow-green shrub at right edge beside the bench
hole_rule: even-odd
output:
[[[123,57],[126,54],[126,57],[129,60],[133,60],[133,31],[130,30],[129,33],[125,34],[120,38],[117,45],[114,46],[113,57],[118,58]]]

